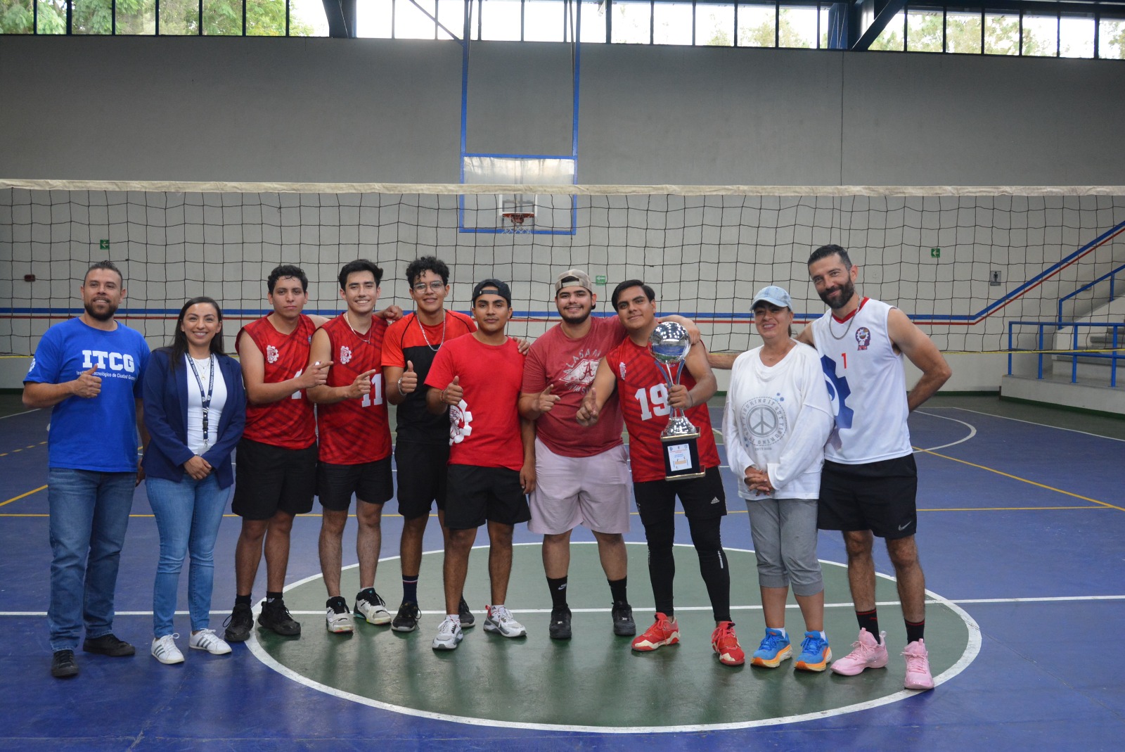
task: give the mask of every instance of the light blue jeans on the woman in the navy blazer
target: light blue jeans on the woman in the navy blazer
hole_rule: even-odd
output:
[[[187,473],[179,483],[148,478],[148,504],[160,531],[160,562],[152,591],[152,627],[156,637],[172,634],[176,591],[183,558],[191,554],[188,570],[188,612],[191,630],[210,623],[210,593],[215,581],[215,539],[223,521],[231,489],[218,487],[215,473],[195,481]]]

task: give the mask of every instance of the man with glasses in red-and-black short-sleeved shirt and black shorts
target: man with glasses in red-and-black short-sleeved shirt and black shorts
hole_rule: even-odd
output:
[[[406,281],[417,307],[392,324],[382,341],[382,383],[387,385],[387,402],[398,406],[395,465],[398,468],[398,511],[403,516],[399,544],[403,602],[390,623],[396,632],[413,632],[418,625],[422,536],[432,503],[438,504],[438,521],[447,543],[449,538],[444,527],[449,414],[433,414],[426,409],[425,378],[446,342],[477,329],[471,317],[446,310],[449,267],[444,261],[432,256],[415,259],[406,267]],[[458,612],[462,628],[475,624],[464,597]]]

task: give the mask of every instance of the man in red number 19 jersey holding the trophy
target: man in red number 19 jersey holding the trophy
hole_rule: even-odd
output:
[[[657,610],[656,621],[632,641],[632,648],[655,651],[680,642],[680,624],[673,607],[675,503],[680,496],[711,599],[716,621],[711,645],[721,663],[740,665],[745,655],[730,619],[730,569],[720,535],[727,501],[706,406],[716,390],[706,351],[702,343],[693,344],[682,383],[668,387],[648,348],[648,338],[657,324],[656,293],[641,280],[629,279],[613,290],[612,303],[628,338],[602,358],[575,418],[580,426],[594,426],[614,390],[619,393],[629,428],[633,495],[648,541],[648,572]],[[665,480],[660,432],[668,423],[672,408],[685,410],[700,430],[699,455],[706,472],[703,477]]]

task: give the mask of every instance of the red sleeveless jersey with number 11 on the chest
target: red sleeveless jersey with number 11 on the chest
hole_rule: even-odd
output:
[[[352,331],[343,314],[321,326],[328,335],[328,386],[346,386],[360,374],[375,369],[371,391],[361,400],[343,400],[316,406],[316,428],[321,439],[321,462],[333,465],[374,463],[390,455],[390,428],[384,400],[382,339],[387,322],[371,319],[364,337]]]

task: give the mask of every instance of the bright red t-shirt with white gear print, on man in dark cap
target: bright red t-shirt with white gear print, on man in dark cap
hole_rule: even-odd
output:
[[[523,467],[519,412],[523,356],[515,342],[485,344],[472,335],[446,342],[425,383],[443,390],[454,376],[465,395],[449,409],[449,464]]]

